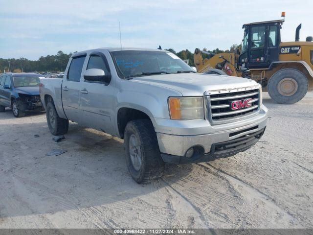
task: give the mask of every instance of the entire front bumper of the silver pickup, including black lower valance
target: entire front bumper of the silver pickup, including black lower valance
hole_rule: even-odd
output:
[[[206,162],[216,158],[233,156],[250,148],[263,135],[266,123],[267,114],[265,113],[262,117],[255,119],[253,123],[212,134],[172,135],[157,132],[156,136],[164,162],[176,164]],[[238,142],[240,146],[235,147]],[[229,144],[231,148],[223,149],[223,146]],[[220,146],[221,151],[216,151],[217,146]],[[191,147],[199,149],[199,153],[188,159],[185,154]]]

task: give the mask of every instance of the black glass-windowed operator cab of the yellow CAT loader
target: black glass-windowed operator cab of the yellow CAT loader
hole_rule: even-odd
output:
[[[244,24],[244,39],[237,68],[266,69],[272,61],[278,61],[283,22],[277,20]]]

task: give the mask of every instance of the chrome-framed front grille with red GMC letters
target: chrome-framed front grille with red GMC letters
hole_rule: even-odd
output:
[[[259,89],[208,95],[207,114],[210,123],[227,123],[257,114],[260,108],[259,95]]]

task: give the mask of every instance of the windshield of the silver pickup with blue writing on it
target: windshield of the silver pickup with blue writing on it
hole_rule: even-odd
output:
[[[119,50],[111,52],[116,70],[123,78],[154,74],[195,72],[178,56],[167,51]]]

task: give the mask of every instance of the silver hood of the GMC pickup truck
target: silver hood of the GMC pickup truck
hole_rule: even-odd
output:
[[[251,79],[204,73],[175,73],[136,77],[132,81],[170,88],[183,96],[201,96],[208,91],[255,86]]]

